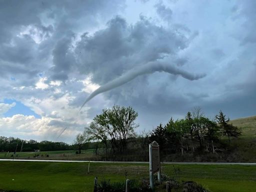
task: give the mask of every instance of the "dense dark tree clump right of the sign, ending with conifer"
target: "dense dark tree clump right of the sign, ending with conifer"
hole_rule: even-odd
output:
[[[149,141],[156,140],[166,153],[184,154],[184,150],[194,153],[225,150],[226,143],[223,136],[227,136],[228,143],[231,137],[238,137],[241,131],[229,123],[220,110],[214,119],[205,117],[200,108],[187,112],[185,118],[170,120],[163,126],[161,123],[152,130]]]

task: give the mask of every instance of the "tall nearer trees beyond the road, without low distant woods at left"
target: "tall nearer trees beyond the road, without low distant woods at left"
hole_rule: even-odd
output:
[[[82,139],[75,139],[78,146],[83,141],[94,141],[95,154],[101,149],[105,159],[122,160],[123,155],[138,153],[147,158],[148,143],[155,140],[160,145],[162,155],[181,154],[184,152],[212,152],[225,150],[227,137],[238,137],[241,131],[229,123],[229,118],[222,111],[214,119],[206,117],[200,108],[188,111],[184,118],[174,120],[172,117],[163,125],[160,123],[150,132],[135,133],[138,124],[135,119],[138,113],[132,107],[114,105],[103,109],[96,115],[84,132],[80,133]],[[81,138],[81,137],[79,137]],[[79,140],[79,142],[77,142]],[[138,152],[136,152],[138,151]],[[140,158],[141,160],[141,158]]]

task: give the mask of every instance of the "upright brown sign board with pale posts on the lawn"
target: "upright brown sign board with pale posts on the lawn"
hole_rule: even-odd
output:
[[[149,181],[150,188],[153,190],[153,174],[157,172],[157,180],[161,183],[161,167],[160,167],[160,155],[159,145],[156,141],[153,141],[148,145],[149,149]]]

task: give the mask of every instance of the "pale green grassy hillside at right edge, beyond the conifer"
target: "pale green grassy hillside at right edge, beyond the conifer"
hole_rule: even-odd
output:
[[[249,116],[244,118],[237,118],[230,120],[230,122],[241,128],[242,135],[241,137],[256,137],[256,116]]]

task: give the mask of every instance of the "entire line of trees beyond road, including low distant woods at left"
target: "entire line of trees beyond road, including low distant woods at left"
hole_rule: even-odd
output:
[[[135,131],[137,116],[131,106],[114,105],[102,109],[71,145],[0,136],[0,151],[14,151],[17,147],[17,151],[76,149],[81,153],[81,149],[93,148],[101,160],[148,160],[148,144],[154,140],[160,145],[162,157],[215,154],[227,150],[231,138],[241,134],[222,111],[210,119],[197,107],[188,111],[184,118],[170,117],[166,124],[159,123],[152,131],[140,132]]]

